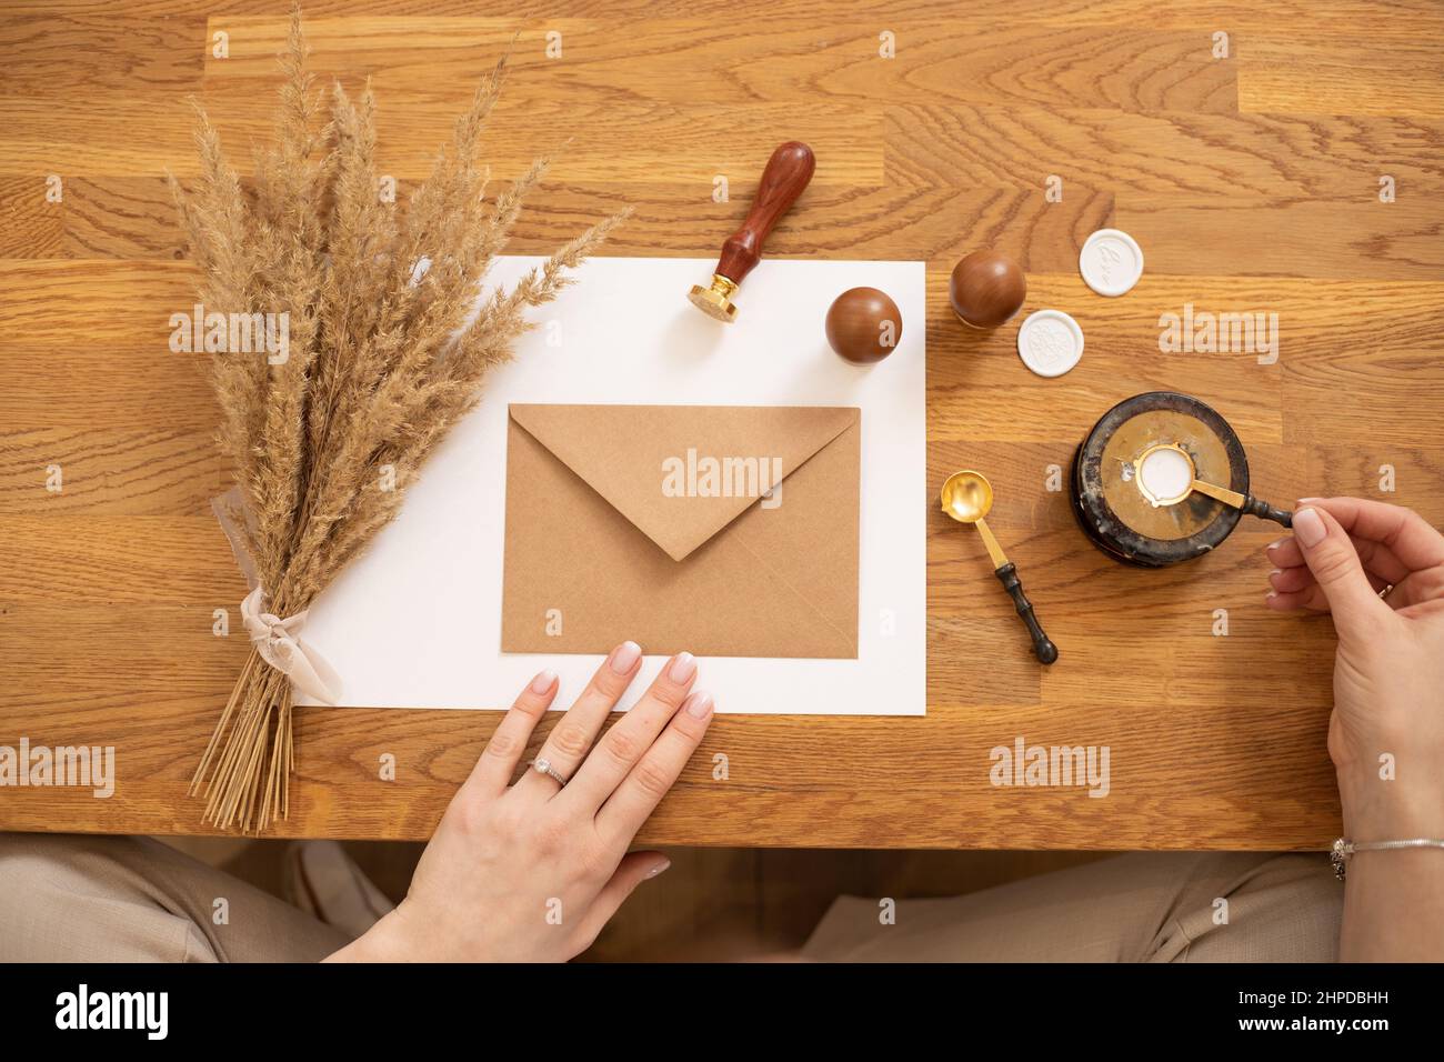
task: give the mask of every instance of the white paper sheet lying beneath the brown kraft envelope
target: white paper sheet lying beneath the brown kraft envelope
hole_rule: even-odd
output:
[[[510,285],[536,262],[501,259],[490,282]],[[686,299],[713,264],[593,259],[534,311],[540,327],[491,374],[396,522],[312,605],[305,640],[341,673],[342,704],[504,708],[552,668],[565,708],[601,662],[500,649],[508,403],[796,405],[862,409],[858,659],[703,657],[697,688],[722,712],[924,714],[924,264],[762,262],[731,325]],[[845,363],[823,334],[832,301],[861,285],[902,315],[897,350],[871,367]],[[648,656],[631,694],[663,663]]]

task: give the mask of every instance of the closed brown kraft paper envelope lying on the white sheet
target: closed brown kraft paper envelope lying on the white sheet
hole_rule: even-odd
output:
[[[510,406],[503,652],[855,659],[861,432],[832,406]]]

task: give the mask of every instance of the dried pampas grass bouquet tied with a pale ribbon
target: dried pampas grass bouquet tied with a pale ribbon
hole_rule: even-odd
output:
[[[322,121],[305,59],[297,12],[282,55],[276,140],[258,155],[254,182],[227,163],[199,110],[201,178],[191,191],[172,181],[202,272],[218,441],[235,471],[217,514],[251,584],[241,605],[251,653],[191,792],[205,796],[208,822],[253,832],[287,812],[292,685],[323,701],[336,695],[336,676],[299,639],[306,608],[397,513],[426,457],[475,406],[487,371],[530,327],[527,308],[553,299],[566,270],[622,218],[482,298],[482,275],[546,170],[537,160],[487,197],[477,149],[505,61],[401,208],[380,194],[370,87],[354,101],[336,84]],[[227,342],[237,319],[243,338],[264,331],[260,353],[250,353],[254,341]]]

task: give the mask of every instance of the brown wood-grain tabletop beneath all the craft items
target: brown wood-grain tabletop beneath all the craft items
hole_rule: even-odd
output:
[[[381,159],[403,192],[517,32],[494,170],[516,176],[570,144],[513,251],[549,250],[630,202],[609,253],[713,254],[771,149],[807,140],[816,178],[770,251],[927,260],[930,490],[954,468],[988,471],[991,523],[1063,653],[1051,669],[1031,660],[978,538],[934,513],[927,717],[722,717],[647,839],[1333,838],[1333,631],[1266,611],[1262,549],[1278,529],[1245,522],[1197,562],[1125,569],[1084,540],[1048,477],[1115,402],[1177,389],[1233,423],[1265,497],[1360,494],[1444,523],[1444,4],[478,7],[308,6],[313,69],[374,79]],[[117,773],[111,799],[0,789],[0,828],[208,832],[185,786],[245,655],[244,584],[206,507],[227,484],[215,405],[166,345],[195,277],[163,175],[196,172],[188,97],[250,157],[283,30],[276,0],[12,0],[0,16],[0,744],[114,746]],[[218,32],[228,58],[211,53]],[[884,33],[894,58],[879,56]],[[52,175],[61,202],[46,199]],[[729,202],[712,201],[716,175]],[[1076,269],[1106,225],[1147,253],[1121,299],[1092,295]],[[978,247],[1028,270],[1027,311],[1079,319],[1076,370],[1034,377],[1015,328],[959,327],[947,275]],[[1186,303],[1278,314],[1276,364],[1160,353],[1160,315]],[[61,493],[46,490],[52,465]],[[215,608],[231,610],[230,637],[212,636]],[[1213,633],[1219,610],[1227,636]],[[497,718],[302,711],[279,832],[426,837]],[[989,750],[1018,737],[1109,746],[1108,796],[992,786]],[[384,753],[394,782],[378,780]]]

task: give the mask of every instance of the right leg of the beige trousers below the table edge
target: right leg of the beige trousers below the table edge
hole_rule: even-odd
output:
[[[840,897],[804,955],[852,962],[1336,962],[1324,855],[1135,852],[943,900]]]

